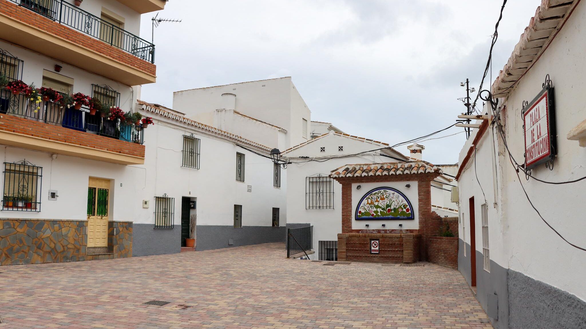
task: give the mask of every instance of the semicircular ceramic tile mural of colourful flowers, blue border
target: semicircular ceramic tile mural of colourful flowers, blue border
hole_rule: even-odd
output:
[[[356,207],[356,220],[413,220],[408,198],[391,187],[378,187],[364,194]]]

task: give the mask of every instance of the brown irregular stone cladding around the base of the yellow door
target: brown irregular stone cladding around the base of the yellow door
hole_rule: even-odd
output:
[[[131,257],[132,223],[109,226],[108,253],[86,255],[86,221],[0,219],[0,265]]]

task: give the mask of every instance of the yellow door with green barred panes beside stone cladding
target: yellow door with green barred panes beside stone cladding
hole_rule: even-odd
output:
[[[110,180],[90,177],[87,189],[87,246],[108,246]]]

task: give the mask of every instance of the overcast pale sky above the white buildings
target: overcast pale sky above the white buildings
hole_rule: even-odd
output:
[[[493,76],[509,59],[539,0],[507,2]],[[445,128],[478,89],[502,0],[171,0],[155,29],[157,83],[173,91],[291,76],[314,121],[395,144]],[[151,17],[141,35],[150,41]],[[488,81],[485,87],[492,84]],[[474,94],[475,95],[475,94]],[[451,135],[451,128],[436,136]],[[456,163],[464,133],[423,142],[424,160]],[[399,149],[407,153],[405,146]]]

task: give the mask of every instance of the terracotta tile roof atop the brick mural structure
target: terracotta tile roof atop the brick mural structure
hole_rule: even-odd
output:
[[[402,174],[442,173],[440,167],[425,161],[365,163],[345,165],[332,170],[330,177],[365,177]]]

